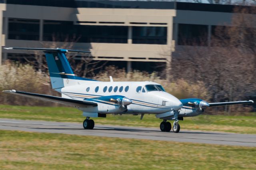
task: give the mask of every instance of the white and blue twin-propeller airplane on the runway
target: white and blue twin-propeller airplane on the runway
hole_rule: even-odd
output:
[[[207,107],[254,103],[250,101],[234,101],[223,103],[207,103],[202,99],[177,99],[167,93],[164,88],[151,81],[116,82],[110,77],[110,82],[101,82],[74,75],[68,60],[67,52],[90,53],[67,49],[42,48],[5,48],[20,50],[44,51],[49,68],[52,88],[62,97],[28,93],[16,90],[6,90],[4,93],[52,101],[76,107],[86,117],[83,123],[85,129],[93,129],[92,117],[106,117],[107,114],[141,115],[154,114],[162,119],[160,130],[169,132],[170,122],[174,120],[173,131],[180,131],[179,120],[184,117],[200,115]]]

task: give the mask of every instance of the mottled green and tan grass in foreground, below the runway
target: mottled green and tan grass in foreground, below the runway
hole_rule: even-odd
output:
[[[256,169],[256,147],[0,130],[0,169]]]

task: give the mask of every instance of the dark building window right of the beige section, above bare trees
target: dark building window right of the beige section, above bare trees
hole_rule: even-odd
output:
[[[208,26],[179,24],[178,45],[207,46]]]

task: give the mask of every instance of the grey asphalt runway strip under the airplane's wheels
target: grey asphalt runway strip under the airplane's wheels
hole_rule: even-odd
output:
[[[234,134],[194,130],[188,131],[182,129],[179,133],[174,133],[172,131],[161,132],[158,128],[121,127],[110,125],[95,125],[93,130],[85,130],[82,127],[82,122],[78,124],[47,121],[24,121],[16,119],[0,119],[0,129],[256,147],[256,134]]]

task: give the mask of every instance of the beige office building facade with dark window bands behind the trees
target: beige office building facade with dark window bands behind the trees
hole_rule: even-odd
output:
[[[27,51],[3,47],[90,50],[93,60],[162,63],[179,46],[210,45],[214,28],[231,25],[231,5],[110,0],[0,0],[0,61]],[[191,40],[196,40],[191,43]],[[195,43],[196,42],[196,43]],[[198,44],[197,44],[198,43]]]

